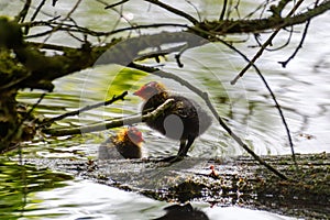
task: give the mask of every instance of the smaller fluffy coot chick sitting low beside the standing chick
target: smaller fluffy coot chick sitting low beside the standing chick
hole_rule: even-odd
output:
[[[141,158],[143,138],[134,127],[120,130],[99,146],[99,160]]]

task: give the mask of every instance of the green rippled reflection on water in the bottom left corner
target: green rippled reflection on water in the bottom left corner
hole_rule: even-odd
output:
[[[0,157],[0,219],[18,219],[37,209],[40,199],[34,194],[64,187],[72,176],[54,173],[33,165],[19,165]]]

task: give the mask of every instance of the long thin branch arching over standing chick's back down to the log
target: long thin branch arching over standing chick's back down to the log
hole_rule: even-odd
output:
[[[143,66],[143,65],[134,64],[134,63],[131,63],[129,65],[129,67],[136,68],[136,69],[140,69],[140,70],[144,70],[144,72],[147,72],[150,74],[153,74],[153,75],[156,75],[156,76],[160,76],[160,77],[174,79],[174,80],[178,81],[179,84],[186,86],[188,89],[190,89],[195,94],[197,94],[199,97],[201,97],[205,100],[205,102],[207,103],[208,108],[211,110],[211,112],[213,113],[213,116],[216,117],[216,119],[218,120],[218,122],[220,123],[220,125],[228,132],[228,134],[230,136],[233,138],[233,140],[240,146],[242,146],[255,161],[257,161],[260,164],[262,164],[265,167],[267,167],[271,172],[273,172],[274,174],[276,174],[278,177],[280,177],[282,179],[288,179],[284,174],[282,174],[280,172],[278,172],[272,165],[267,164],[258,155],[256,155],[251,148],[249,148],[249,146],[246,144],[244,144],[243,141],[224,123],[224,120],[218,114],[216,108],[212,106],[212,103],[211,103],[211,101],[210,101],[207,92],[201,91],[197,87],[195,87],[191,84],[189,84],[187,80],[184,80],[184,79],[182,79],[180,77],[178,77],[176,75],[163,72],[163,70],[161,70],[158,68],[147,67],[147,66]]]

